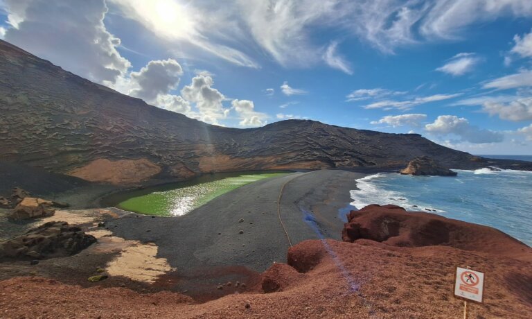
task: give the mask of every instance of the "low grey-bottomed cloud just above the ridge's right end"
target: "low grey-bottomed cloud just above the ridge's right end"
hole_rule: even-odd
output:
[[[504,135],[500,132],[472,126],[468,119],[455,115],[440,115],[434,123],[425,125],[425,130],[439,136],[456,135],[461,141],[473,144],[495,143],[504,139]]]

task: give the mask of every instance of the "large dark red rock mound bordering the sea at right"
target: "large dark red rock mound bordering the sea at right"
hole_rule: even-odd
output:
[[[520,256],[530,248],[495,228],[425,212],[407,212],[396,205],[368,205],[351,211],[342,239],[371,239],[387,245],[421,247],[447,245],[462,250]],[[530,255],[526,255],[532,260]]]

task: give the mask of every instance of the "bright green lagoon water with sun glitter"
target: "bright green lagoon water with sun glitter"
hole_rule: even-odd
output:
[[[168,184],[121,194],[114,206],[130,212],[157,216],[182,216],[209,200],[238,187],[286,175],[289,172],[242,172],[204,175],[190,182]]]

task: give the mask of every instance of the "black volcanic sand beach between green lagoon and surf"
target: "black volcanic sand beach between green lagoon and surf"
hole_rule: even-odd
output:
[[[344,225],[339,209],[351,202],[349,190],[364,175],[344,170],[292,173],[247,184],[185,216],[130,214],[108,221],[107,227],[115,236],[159,247],[157,257],[177,270],[156,285],[187,291],[197,300],[217,298],[235,291],[236,281],[253,286],[259,272],[275,261],[286,262],[290,244],[277,212],[283,185],[281,217],[293,245],[321,236],[339,240]],[[229,281],[233,286],[216,289]]]

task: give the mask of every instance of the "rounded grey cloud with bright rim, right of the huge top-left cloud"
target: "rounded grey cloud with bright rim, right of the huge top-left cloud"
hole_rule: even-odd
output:
[[[179,85],[183,69],[176,60],[152,60],[139,72],[131,73],[131,80],[138,85],[130,95],[153,101],[159,94],[168,94]]]

